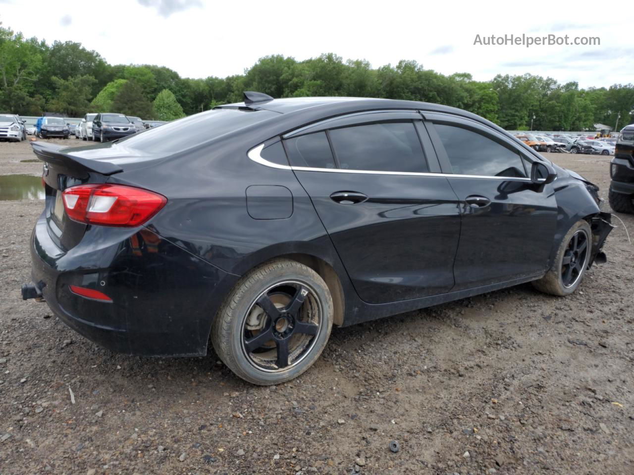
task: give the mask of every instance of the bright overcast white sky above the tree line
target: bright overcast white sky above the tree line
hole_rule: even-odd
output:
[[[111,64],[184,77],[242,73],[258,58],[333,52],[373,67],[401,59],[477,80],[532,73],[580,87],[634,82],[631,1],[0,0],[3,26],[81,42]],[[600,37],[600,46],[481,46],[476,35]]]

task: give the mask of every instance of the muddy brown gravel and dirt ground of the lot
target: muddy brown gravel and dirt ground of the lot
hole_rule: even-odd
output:
[[[0,174],[39,175],[30,158],[0,143]],[[609,157],[549,158],[607,201]],[[527,284],[335,329],[304,376],[259,388],[213,354],[112,354],[23,302],[41,209],[0,201],[3,475],[634,473],[634,248],[616,219],[573,296]]]

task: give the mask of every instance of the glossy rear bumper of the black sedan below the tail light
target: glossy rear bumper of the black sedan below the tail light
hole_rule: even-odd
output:
[[[32,234],[32,282],[53,313],[113,352],[204,355],[224,296],[238,276],[194,257],[149,229],[93,226],[64,252],[44,213]],[[91,243],[91,244],[87,244]],[[76,295],[98,290],[112,302]]]

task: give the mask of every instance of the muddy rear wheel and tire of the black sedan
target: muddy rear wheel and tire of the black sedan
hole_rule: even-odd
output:
[[[238,281],[211,329],[218,357],[250,383],[279,384],[319,358],[333,322],[328,286],[292,260],[262,264]]]

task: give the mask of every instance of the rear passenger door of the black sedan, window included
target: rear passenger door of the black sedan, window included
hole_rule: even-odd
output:
[[[347,115],[283,143],[362,300],[453,288],[460,210],[420,114]]]

